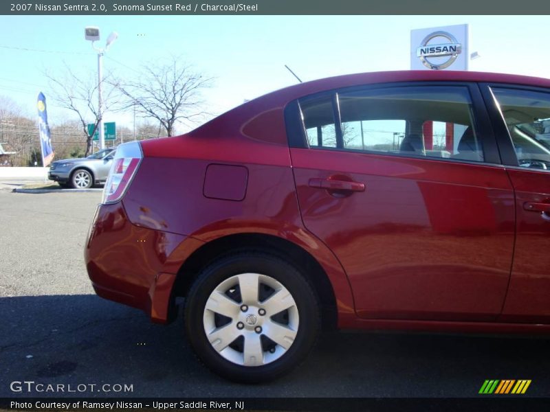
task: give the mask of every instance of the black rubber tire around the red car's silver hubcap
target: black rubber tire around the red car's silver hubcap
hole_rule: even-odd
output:
[[[270,339],[267,339],[266,342],[264,340],[265,336],[262,336],[263,333],[256,332],[261,335],[261,338],[257,338],[261,341],[260,350],[263,351],[261,363],[265,362],[266,359],[269,359],[270,356],[272,356],[272,358],[275,356],[280,356],[274,361],[269,361],[269,363],[263,363],[262,365],[257,366],[234,363],[219,354],[219,352],[217,352],[217,350],[215,350],[210,343],[206,334],[206,323],[203,323],[203,319],[206,319],[206,304],[210,298],[210,294],[214,293],[214,290],[219,288],[222,282],[225,281],[224,284],[227,284],[227,282],[232,282],[235,275],[251,274],[260,274],[261,277],[259,279],[269,279],[270,282],[271,279],[275,279],[279,286],[283,286],[283,288],[286,289],[285,292],[287,291],[290,295],[292,295],[291,299],[293,299],[292,302],[295,305],[292,306],[292,309],[284,310],[276,315],[279,317],[277,318],[276,325],[280,325],[278,321],[279,319],[284,319],[285,312],[287,319],[289,319],[289,317],[294,317],[294,319],[296,319],[296,313],[298,313],[299,318],[294,341],[292,341],[287,348],[284,348],[281,345],[276,345],[275,342],[270,341]],[[263,280],[260,280],[259,284],[262,284],[261,282],[263,282]],[[238,292],[235,292],[235,289],[238,290]],[[269,286],[265,286],[265,284],[262,284],[260,289],[267,290],[267,293],[270,293]],[[232,300],[239,302],[240,299],[241,303],[243,302],[243,299],[240,297],[240,286],[230,288],[230,293],[238,293],[236,296],[237,299]],[[267,298],[262,301],[262,293],[262,291],[258,293],[258,305],[260,306],[269,299]],[[274,292],[272,293],[274,296]],[[288,301],[288,299],[281,300],[285,300],[285,303]],[[238,304],[240,305],[241,303]],[[262,313],[263,309],[258,309],[258,307],[259,306],[256,305],[253,307],[251,306],[250,311],[252,312],[252,310],[257,310],[256,313],[259,315]],[[268,306],[266,306],[266,308],[268,308]],[[291,310],[293,313],[292,315],[289,314]],[[241,314],[238,316],[241,316]],[[283,318],[280,318],[281,316],[283,316]],[[271,317],[268,313],[266,313],[265,317],[263,317],[262,320],[259,319],[259,321],[263,321],[265,330],[269,331],[271,330],[270,328],[272,325],[274,325],[274,318],[275,315],[274,317]],[[228,319],[230,320],[228,326],[231,328],[237,328],[237,323],[239,323],[236,321],[237,319],[227,318],[225,321]],[[248,317],[246,319],[249,324],[245,325],[245,328],[247,329],[245,329],[244,332],[245,336],[249,337],[243,336],[241,340],[243,359],[245,358],[245,339],[251,339],[248,342],[252,342],[252,339],[255,339],[252,330],[250,330],[252,325],[250,325]],[[242,322],[240,323],[241,325],[243,324]],[[287,325],[284,326],[289,327],[289,325],[290,323],[287,323]],[[305,277],[296,267],[292,266],[292,264],[289,264],[288,262],[285,262],[285,260],[276,255],[270,255],[261,251],[243,251],[231,255],[225,255],[224,257],[212,262],[212,264],[201,271],[195,283],[192,284],[192,287],[186,297],[185,328],[187,337],[197,356],[212,371],[220,376],[223,376],[223,378],[227,378],[235,382],[260,383],[273,380],[287,374],[305,360],[307,354],[311,352],[320,330],[320,309],[318,299],[314,294],[313,288],[311,288]],[[220,329],[218,326],[215,326],[215,328],[215,330]],[[258,326],[256,326],[256,328],[258,328]],[[267,333],[268,332],[266,332],[266,334]],[[239,339],[241,339],[241,337],[234,341],[232,344],[233,347],[238,345]],[[287,339],[287,336],[285,336],[285,339]],[[227,339],[227,341],[229,340],[230,339]],[[285,343],[288,343],[288,341]],[[221,345],[223,345],[223,343],[221,343]],[[251,343],[250,345],[252,347],[254,344]],[[230,345],[226,345],[225,347],[229,347],[231,351],[234,350]],[[238,350],[239,347],[236,347],[234,353],[237,355],[239,354]],[[270,352],[270,354],[268,354],[268,352]],[[280,354],[281,352],[282,355]],[[251,357],[250,359],[255,358]]]

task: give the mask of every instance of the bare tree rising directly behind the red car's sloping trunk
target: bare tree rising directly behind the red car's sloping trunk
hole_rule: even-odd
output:
[[[173,56],[168,62],[144,65],[137,80],[119,79],[115,86],[126,99],[122,110],[135,109],[156,119],[166,135],[173,136],[178,122],[195,122],[208,114],[201,108],[201,91],[211,81]]]

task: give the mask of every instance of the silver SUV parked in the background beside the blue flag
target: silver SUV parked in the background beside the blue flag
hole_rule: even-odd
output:
[[[107,180],[114,153],[114,148],[107,148],[88,157],[53,161],[47,176],[62,187],[87,189]]]

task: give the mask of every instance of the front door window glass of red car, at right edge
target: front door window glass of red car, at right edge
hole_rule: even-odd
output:
[[[550,93],[498,88],[492,92],[519,165],[550,171]]]

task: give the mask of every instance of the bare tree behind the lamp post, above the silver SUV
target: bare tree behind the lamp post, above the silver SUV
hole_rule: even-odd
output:
[[[86,137],[86,153],[91,152],[91,142],[98,124],[101,121],[98,110],[98,80],[95,76],[80,78],[65,65],[65,72],[61,74],[44,73],[50,80],[54,92],[54,100],[63,108],[67,108],[78,115],[80,126]],[[109,81],[109,75],[102,80],[103,111],[107,111],[115,100],[115,87]],[[91,120],[91,121],[89,121]],[[88,123],[94,124],[91,133],[88,133]]]

